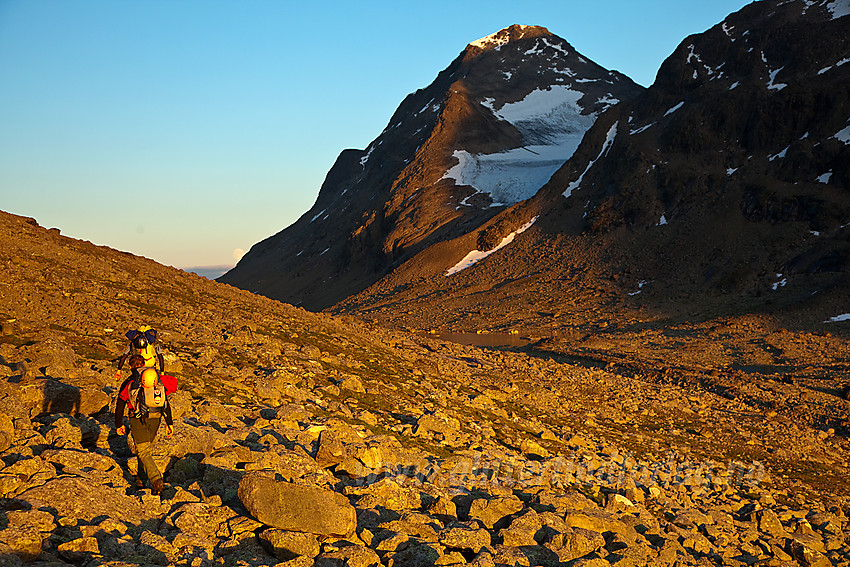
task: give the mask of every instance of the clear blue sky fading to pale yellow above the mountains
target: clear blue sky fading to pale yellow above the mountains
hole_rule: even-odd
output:
[[[0,210],[234,263],[467,43],[540,25],[648,86],[744,0],[0,0]]]

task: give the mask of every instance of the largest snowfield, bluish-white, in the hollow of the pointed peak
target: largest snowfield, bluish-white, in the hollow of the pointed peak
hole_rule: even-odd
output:
[[[596,120],[596,114],[582,114],[578,101],[583,96],[565,85],[555,85],[536,89],[523,100],[498,109],[493,99],[486,99],[482,105],[519,130],[526,145],[494,154],[455,150],[458,164],[443,179],[489,194],[494,205],[528,199],[575,153]],[[607,107],[618,101],[605,96],[600,102]]]

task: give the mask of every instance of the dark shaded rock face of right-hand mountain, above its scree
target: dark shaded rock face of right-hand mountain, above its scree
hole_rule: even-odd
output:
[[[596,123],[544,206],[582,209],[612,270],[642,280],[752,295],[801,255],[846,271],[850,18],[835,6],[753,3],[687,38]]]

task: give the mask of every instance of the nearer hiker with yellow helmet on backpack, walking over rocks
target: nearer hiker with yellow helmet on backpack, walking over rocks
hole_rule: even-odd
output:
[[[131,357],[131,367],[140,363],[144,363],[141,355]],[[143,488],[147,478],[155,495],[161,494],[165,485],[162,481],[162,473],[159,472],[153,460],[153,443],[163,418],[165,434],[169,438],[174,434],[174,421],[171,417],[168,395],[176,390],[177,379],[173,376],[159,374],[155,368],[137,366],[130,377],[121,384],[115,404],[115,429],[119,435],[127,432],[124,427],[124,409],[125,407],[129,409],[130,435],[133,436],[133,442],[136,444],[138,459],[136,488]]]

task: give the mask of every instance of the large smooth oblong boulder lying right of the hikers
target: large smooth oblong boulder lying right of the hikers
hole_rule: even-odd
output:
[[[267,526],[340,537],[354,533],[357,527],[354,507],[332,490],[278,482],[254,473],[243,477],[238,495],[251,515]]]

